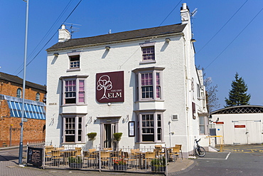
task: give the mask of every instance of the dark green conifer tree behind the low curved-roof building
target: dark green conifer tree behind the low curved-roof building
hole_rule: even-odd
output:
[[[247,84],[242,77],[235,74],[235,81],[231,83],[232,90],[230,90],[228,99],[225,98],[225,107],[235,105],[249,105],[250,94],[247,94]]]

